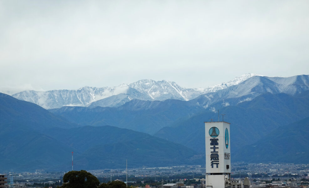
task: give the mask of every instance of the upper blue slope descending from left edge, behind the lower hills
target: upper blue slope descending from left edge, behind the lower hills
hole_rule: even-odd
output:
[[[3,93],[0,93],[0,124],[3,126],[19,124],[40,131],[51,127],[76,126],[36,104],[21,101]]]

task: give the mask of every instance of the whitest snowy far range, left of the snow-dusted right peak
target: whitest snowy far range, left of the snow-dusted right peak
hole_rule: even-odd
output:
[[[12,96],[33,102],[45,109],[63,106],[102,106],[117,107],[132,99],[159,100],[178,99],[188,101],[202,94],[215,92],[252,77],[256,74],[245,74],[231,81],[205,88],[185,88],[173,81],[140,80],[131,84],[115,87],[82,87],[76,90],[22,91]]]

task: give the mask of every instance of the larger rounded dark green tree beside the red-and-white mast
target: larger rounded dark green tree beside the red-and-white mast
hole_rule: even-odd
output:
[[[91,173],[80,170],[70,171],[63,176],[61,188],[97,188],[100,181]]]

